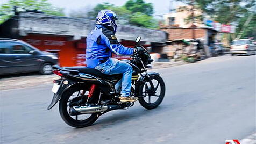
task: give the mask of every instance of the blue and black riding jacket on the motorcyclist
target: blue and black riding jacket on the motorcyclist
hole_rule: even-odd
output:
[[[98,66],[99,61],[108,59],[112,53],[132,55],[133,48],[124,47],[117,41],[113,31],[103,25],[96,25],[86,39],[86,64],[89,68]]]

